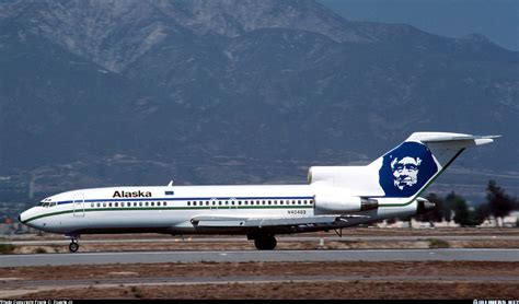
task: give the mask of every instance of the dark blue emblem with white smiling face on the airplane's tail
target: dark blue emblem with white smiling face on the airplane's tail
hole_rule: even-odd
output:
[[[415,195],[438,171],[430,150],[418,142],[404,142],[383,156],[379,184],[389,197]]]

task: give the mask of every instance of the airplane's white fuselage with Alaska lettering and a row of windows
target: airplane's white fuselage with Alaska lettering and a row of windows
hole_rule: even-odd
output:
[[[69,235],[113,232],[251,233],[253,231],[245,227],[200,229],[191,220],[199,215],[256,219],[313,217],[319,213],[319,210],[315,212],[318,191],[323,189],[313,185],[93,188],[46,198],[43,206],[23,212],[20,220],[38,230]],[[341,226],[414,214],[416,208],[415,201],[402,206],[394,206],[393,201],[391,207],[381,204],[377,210],[359,211],[357,214],[367,217],[344,221]],[[333,227],[272,227],[270,233]]]

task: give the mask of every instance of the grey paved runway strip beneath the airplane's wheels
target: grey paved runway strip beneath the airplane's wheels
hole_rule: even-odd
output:
[[[183,250],[1,255],[0,268],[151,262],[231,261],[519,261],[519,249]]]

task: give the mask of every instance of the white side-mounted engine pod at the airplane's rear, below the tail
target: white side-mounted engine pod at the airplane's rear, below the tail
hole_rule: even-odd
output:
[[[341,195],[316,195],[316,213],[350,213],[379,208],[379,201],[364,197],[350,197]]]

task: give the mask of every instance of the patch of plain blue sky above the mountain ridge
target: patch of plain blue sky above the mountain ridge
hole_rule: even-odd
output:
[[[448,37],[478,33],[519,50],[519,0],[319,0],[351,21],[405,23]]]

